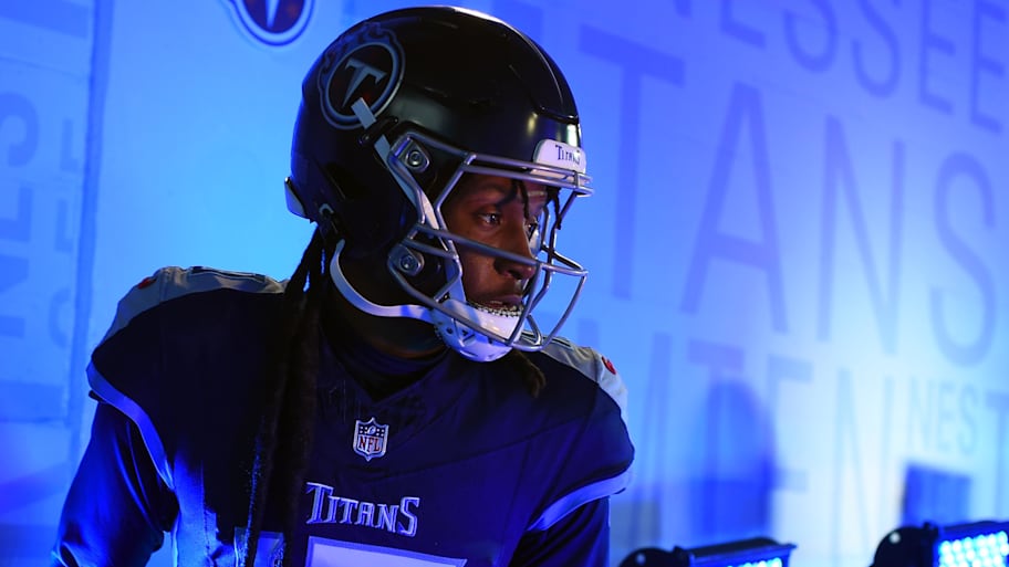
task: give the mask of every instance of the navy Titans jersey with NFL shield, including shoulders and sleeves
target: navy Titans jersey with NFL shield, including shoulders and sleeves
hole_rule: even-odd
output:
[[[122,300],[89,367],[100,405],[56,564],[143,565],[165,532],[179,565],[239,564],[282,292],[169,267]],[[623,382],[563,339],[527,356],[547,376],[538,397],[504,364],[321,340],[298,529],[281,542],[267,518],[257,565],[605,565],[608,496],[633,459]],[[381,397],[355,379],[386,370],[416,376]]]

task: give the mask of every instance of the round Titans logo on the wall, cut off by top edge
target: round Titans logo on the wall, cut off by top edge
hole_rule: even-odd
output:
[[[225,0],[241,27],[268,45],[287,45],[304,31],[315,0]]]

